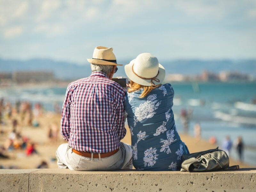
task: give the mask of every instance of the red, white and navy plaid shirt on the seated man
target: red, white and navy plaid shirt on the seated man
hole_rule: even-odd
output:
[[[102,72],[68,85],[60,133],[78,151],[106,153],[124,138],[124,89]]]

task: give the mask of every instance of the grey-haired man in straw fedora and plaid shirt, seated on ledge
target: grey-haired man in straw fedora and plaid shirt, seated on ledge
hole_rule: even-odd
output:
[[[57,149],[59,168],[77,171],[132,169],[132,148],[120,142],[124,128],[124,89],[112,81],[117,71],[112,48],[96,47],[92,75],[68,85],[60,133],[68,143]]]

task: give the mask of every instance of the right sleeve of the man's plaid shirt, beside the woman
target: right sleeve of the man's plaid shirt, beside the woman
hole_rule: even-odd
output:
[[[120,103],[117,107],[117,131],[119,139],[123,139],[126,135],[126,129],[124,128],[124,95],[120,97]]]

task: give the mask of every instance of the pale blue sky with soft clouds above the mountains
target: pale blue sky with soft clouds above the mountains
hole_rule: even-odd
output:
[[[0,0],[0,57],[256,58],[255,0]]]

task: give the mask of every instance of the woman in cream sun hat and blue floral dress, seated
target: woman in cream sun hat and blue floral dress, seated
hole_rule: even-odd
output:
[[[171,84],[161,83],[165,69],[150,53],[124,67],[131,80],[124,101],[132,135],[132,162],[138,170],[175,171],[188,153],[175,127]]]

